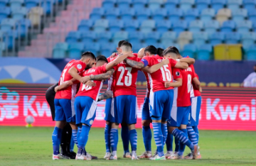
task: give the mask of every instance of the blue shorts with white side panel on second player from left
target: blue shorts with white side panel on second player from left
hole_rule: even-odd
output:
[[[75,123],[78,125],[84,123],[87,126],[92,126],[95,120],[97,102],[89,96],[75,97]]]

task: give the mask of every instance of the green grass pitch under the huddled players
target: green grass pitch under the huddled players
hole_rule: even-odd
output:
[[[0,165],[256,165],[255,131],[200,131],[202,160],[150,161],[122,158],[119,136],[119,160],[106,161],[104,128],[92,128],[86,150],[99,160],[52,160],[51,133],[53,128],[0,127]],[[137,154],[144,152],[142,130],[138,129]],[[120,133],[120,131],[119,131]],[[156,149],[152,140],[152,149]],[[75,148],[77,150],[77,148]],[[185,155],[188,153],[186,148]]]

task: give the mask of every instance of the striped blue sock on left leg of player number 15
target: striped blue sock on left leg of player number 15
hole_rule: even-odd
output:
[[[159,157],[164,155],[163,133],[161,132],[161,123],[153,122],[154,140],[156,142],[157,153]]]

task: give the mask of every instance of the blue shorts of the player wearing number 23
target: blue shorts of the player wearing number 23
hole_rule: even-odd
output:
[[[112,123],[137,123],[137,97],[122,95],[114,97],[114,114]]]

